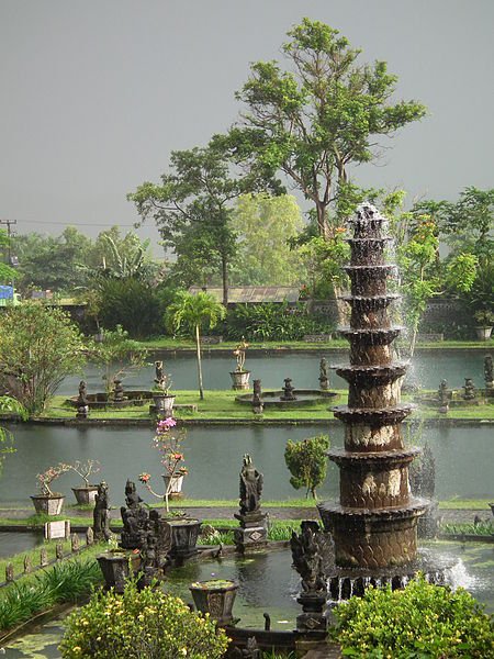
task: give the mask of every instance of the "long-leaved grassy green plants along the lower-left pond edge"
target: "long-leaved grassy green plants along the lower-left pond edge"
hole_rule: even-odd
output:
[[[10,629],[61,602],[78,602],[101,581],[93,559],[64,560],[0,593],[0,629]]]

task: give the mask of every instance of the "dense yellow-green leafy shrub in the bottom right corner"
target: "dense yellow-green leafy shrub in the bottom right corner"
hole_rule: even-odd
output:
[[[404,590],[369,589],[335,610],[346,656],[383,659],[494,657],[494,622],[463,589],[424,577]]]

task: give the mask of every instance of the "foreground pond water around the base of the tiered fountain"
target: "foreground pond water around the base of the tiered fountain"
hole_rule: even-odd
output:
[[[431,543],[428,549],[440,556],[458,559],[453,585],[465,588],[475,599],[494,612],[494,546],[480,543]],[[189,562],[176,569],[165,583],[168,592],[192,602],[189,584],[211,578],[236,579],[239,589],[234,616],[239,626],[263,628],[262,613],[269,613],[272,629],[293,629],[301,606],[295,597],[299,576],[291,568],[290,550],[274,550],[252,557],[226,557],[221,560]],[[7,644],[4,656],[10,659],[58,659],[57,645],[64,633],[63,621],[54,621],[33,634]]]

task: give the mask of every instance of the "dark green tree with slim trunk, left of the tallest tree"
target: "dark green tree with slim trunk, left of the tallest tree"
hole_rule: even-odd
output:
[[[155,219],[164,246],[175,252],[180,268],[198,259],[218,267],[226,304],[236,253],[232,202],[248,189],[248,180],[233,178],[223,153],[211,146],[172,152],[170,170],[160,185],[145,182],[128,199],[143,220]]]

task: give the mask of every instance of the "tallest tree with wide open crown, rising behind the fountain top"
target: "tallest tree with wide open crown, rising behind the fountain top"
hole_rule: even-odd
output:
[[[345,193],[350,165],[377,157],[391,137],[424,116],[416,101],[392,102],[397,77],[385,62],[359,65],[360,51],[337,30],[303,19],[282,51],[292,70],[257,62],[237,99],[242,119],[214,143],[260,178],[284,175],[316,210],[319,235],[330,234],[328,209]]]

